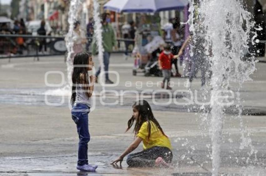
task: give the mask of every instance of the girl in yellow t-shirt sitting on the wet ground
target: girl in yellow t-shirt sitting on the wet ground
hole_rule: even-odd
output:
[[[130,129],[136,120],[134,127],[135,141],[111,164],[122,163],[124,157],[135,150],[143,142],[143,151],[130,154],[127,157],[127,164],[131,167],[157,167],[168,166],[172,161],[171,143],[164,134],[158,121],[154,118],[151,106],[146,100],[137,101],[133,105],[133,116],[128,121]]]

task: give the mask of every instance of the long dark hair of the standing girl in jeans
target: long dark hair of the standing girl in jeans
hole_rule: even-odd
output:
[[[76,100],[76,87],[78,87],[79,90],[79,84],[82,84],[83,90],[88,90],[89,88],[88,65],[90,57],[91,55],[86,52],[80,52],[74,56],[74,69],[72,73],[72,95],[70,100],[71,105],[73,105]],[[84,65],[84,67],[82,65]],[[89,96],[88,91],[86,91],[86,93]]]

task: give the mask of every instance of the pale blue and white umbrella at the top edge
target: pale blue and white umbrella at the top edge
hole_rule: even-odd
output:
[[[110,0],[105,10],[115,12],[159,12],[176,10],[188,5],[188,0]]]

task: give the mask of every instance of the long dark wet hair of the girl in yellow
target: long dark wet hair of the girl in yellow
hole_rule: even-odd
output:
[[[135,124],[134,130],[133,130],[133,133],[135,134],[135,136],[138,134],[139,130],[141,129],[141,125],[144,122],[148,122],[148,139],[150,139],[151,121],[156,125],[156,128],[159,129],[163,135],[165,135],[159,122],[155,119],[155,117],[151,111],[151,106],[149,105],[149,103],[146,100],[136,101],[133,104],[132,108],[136,109],[139,112],[139,116],[136,119],[136,124]],[[127,122],[128,128],[126,131],[128,131],[131,128],[131,126],[134,124],[134,121],[135,121],[135,118],[134,118],[134,116],[132,116]]]

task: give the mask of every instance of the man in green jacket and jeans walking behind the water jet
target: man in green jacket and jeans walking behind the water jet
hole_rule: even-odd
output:
[[[113,46],[115,46],[115,32],[110,23],[110,14],[109,13],[103,13],[102,14],[102,38],[103,38],[103,47],[104,47],[104,53],[103,53],[103,61],[104,61],[104,71],[105,71],[105,84],[114,84],[113,81],[109,79],[109,61],[110,61],[110,52],[113,50]],[[92,54],[95,55],[97,52],[97,45],[96,45],[96,37],[93,37],[93,46],[92,46]],[[99,67],[98,71],[96,72],[96,77],[100,74]]]

